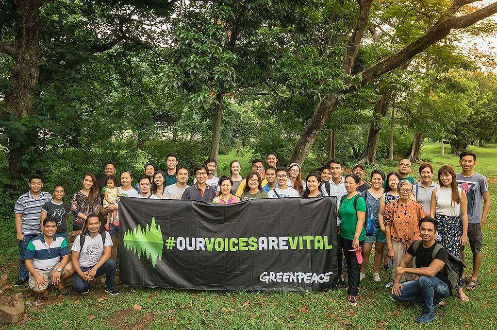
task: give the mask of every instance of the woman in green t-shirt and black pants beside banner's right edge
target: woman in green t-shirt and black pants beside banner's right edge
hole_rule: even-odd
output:
[[[366,201],[357,192],[360,181],[361,179],[356,174],[345,176],[345,190],[347,191],[347,195],[341,198],[338,208],[338,216],[341,220],[341,246],[343,255],[347,261],[348,303],[351,306],[357,305],[359,268],[360,262],[362,262],[362,258],[360,260],[357,260],[357,258],[361,255],[361,247],[364,245],[364,240],[366,239],[366,231],[364,230]]]

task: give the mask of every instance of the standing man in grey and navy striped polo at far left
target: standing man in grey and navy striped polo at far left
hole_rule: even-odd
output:
[[[19,280],[15,285],[22,285],[28,279],[28,271],[24,265],[24,254],[31,239],[41,234],[41,208],[52,199],[52,195],[41,191],[43,177],[34,174],[29,177],[29,191],[19,197],[14,205],[15,230],[19,241]]]

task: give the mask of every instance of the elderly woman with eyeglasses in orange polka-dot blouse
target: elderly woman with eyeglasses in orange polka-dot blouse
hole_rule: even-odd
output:
[[[392,258],[392,284],[396,277],[396,270],[407,253],[411,243],[419,239],[419,219],[424,217],[421,204],[412,200],[413,184],[404,179],[397,185],[400,198],[385,207],[383,216],[387,236],[388,256]],[[414,267],[414,259],[407,266]],[[404,273],[401,282],[414,279],[414,275]],[[387,284],[390,287],[390,283]]]

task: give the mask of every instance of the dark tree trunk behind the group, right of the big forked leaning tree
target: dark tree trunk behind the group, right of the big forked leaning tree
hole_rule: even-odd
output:
[[[391,92],[387,90],[380,91],[381,98],[376,101],[376,106],[373,110],[373,119],[369,126],[368,142],[366,146],[366,153],[359,163],[366,165],[375,164],[376,148],[378,146],[378,134],[381,129],[381,118],[387,114],[390,105]]]

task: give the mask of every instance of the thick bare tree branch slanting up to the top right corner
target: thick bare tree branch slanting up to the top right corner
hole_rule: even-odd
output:
[[[465,2],[465,1],[459,1]],[[497,12],[497,1],[475,12],[465,16],[450,16],[445,20],[435,24],[429,29],[425,35],[414,40],[412,43],[398,51],[397,53],[387,57],[383,61],[363,70],[359,73],[362,77],[358,85],[349,84],[349,88],[340,93],[349,93],[356,90],[358,87],[364,86],[372,80],[378,78],[384,73],[398,68],[404,62],[410,60],[415,55],[424,51],[429,46],[446,37],[451,29],[461,29],[471,26],[472,24],[487,18]]]

